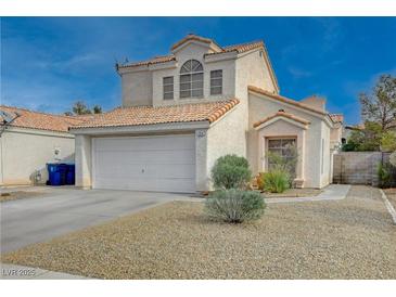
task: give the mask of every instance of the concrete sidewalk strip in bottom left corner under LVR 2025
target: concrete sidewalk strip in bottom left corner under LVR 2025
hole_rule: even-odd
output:
[[[90,280],[80,275],[16,264],[0,263],[0,280]]]

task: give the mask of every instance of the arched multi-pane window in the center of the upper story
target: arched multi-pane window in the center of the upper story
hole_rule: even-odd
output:
[[[180,69],[180,98],[204,96],[204,68],[196,60],[187,61]]]

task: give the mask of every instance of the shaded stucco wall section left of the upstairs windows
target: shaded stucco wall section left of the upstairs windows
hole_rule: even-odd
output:
[[[122,76],[123,106],[152,104],[152,74],[149,70],[125,73]]]

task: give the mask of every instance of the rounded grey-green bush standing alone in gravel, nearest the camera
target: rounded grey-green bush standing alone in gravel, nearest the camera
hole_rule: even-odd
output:
[[[209,218],[232,223],[257,220],[265,208],[266,203],[260,193],[237,189],[215,191],[205,203]]]

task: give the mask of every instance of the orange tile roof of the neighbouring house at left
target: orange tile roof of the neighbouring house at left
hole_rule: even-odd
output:
[[[10,126],[18,128],[67,132],[69,126],[81,124],[87,119],[87,116],[53,115],[5,105],[0,105],[0,109],[13,115],[15,119]],[[1,116],[0,121],[0,126],[3,126],[4,119]]]

